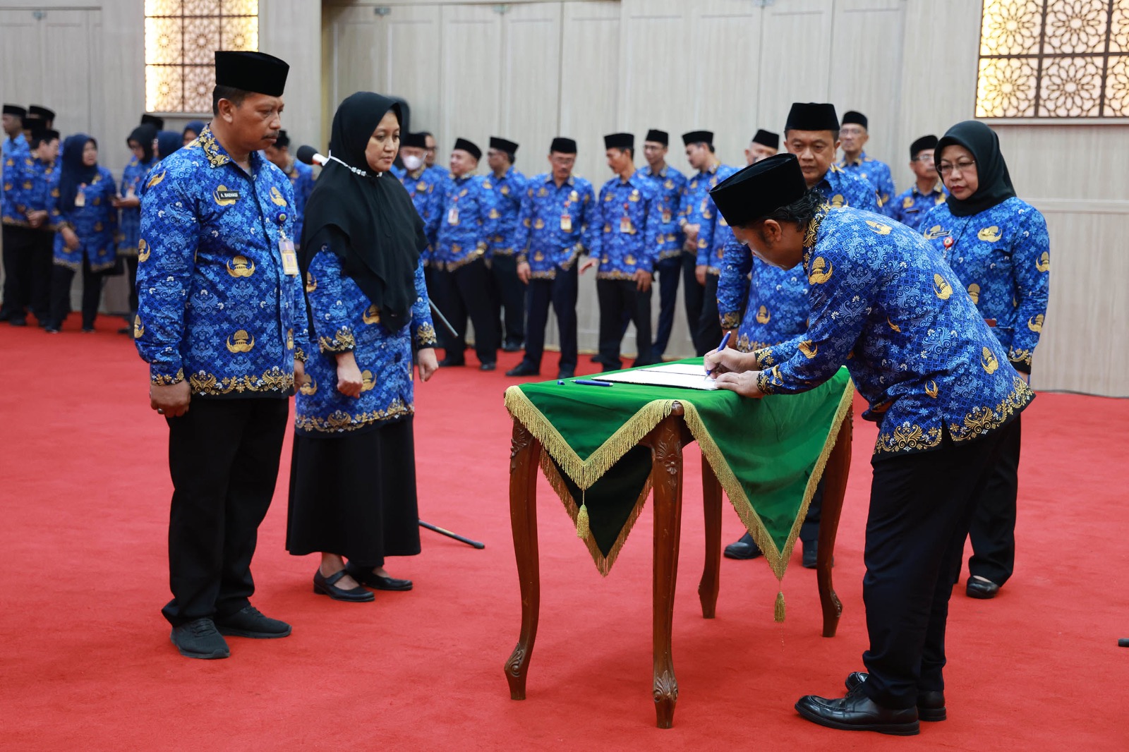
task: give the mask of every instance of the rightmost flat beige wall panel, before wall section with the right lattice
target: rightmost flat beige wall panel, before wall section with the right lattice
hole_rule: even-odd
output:
[[[887,164],[908,161],[898,128],[902,45],[887,43],[901,37],[904,7],[902,0],[835,0],[831,34],[830,100],[840,119],[848,110],[867,116],[866,152]]]

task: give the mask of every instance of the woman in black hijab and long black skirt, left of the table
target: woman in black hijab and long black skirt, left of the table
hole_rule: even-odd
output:
[[[339,601],[371,601],[361,585],[411,589],[388,576],[384,559],[420,551],[412,350],[421,381],[438,362],[423,222],[387,172],[399,148],[397,104],[370,91],[342,102],[301,237],[310,330],[298,348],[306,376],[287,550],[321,552],[314,592]]]

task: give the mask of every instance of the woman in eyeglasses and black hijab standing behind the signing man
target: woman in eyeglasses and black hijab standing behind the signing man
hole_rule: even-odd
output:
[[[1047,315],[1047,221],[1015,195],[999,138],[983,123],[953,125],[934,154],[948,198],[926,215],[921,228],[1007,349],[1012,366],[1030,378],[1032,353]],[[990,353],[986,358],[984,367],[992,368],[994,358]],[[986,414],[1007,409],[983,405]],[[966,593],[974,598],[995,597],[1015,563],[1019,418],[1015,420],[1014,439],[1003,447],[999,463],[980,490],[969,534],[972,558]]]

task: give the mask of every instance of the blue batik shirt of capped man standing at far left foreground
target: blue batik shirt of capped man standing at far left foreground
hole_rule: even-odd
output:
[[[251,175],[204,128],[149,174],[133,335],[154,384],[187,378],[203,397],[292,393],[307,329],[297,261],[283,269],[280,247],[294,242],[294,191],[257,151],[250,161]]]

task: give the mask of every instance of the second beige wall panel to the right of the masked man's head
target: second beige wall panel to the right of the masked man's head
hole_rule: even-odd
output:
[[[489,132],[479,134],[479,146],[484,150],[490,135],[515,141],[522,147],[518,169],[533,175],[546,169],[544,156],[559,125],[561,3],[511,6],[501,24],[500,112]]]

